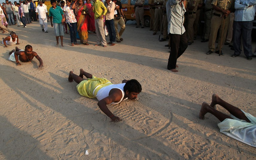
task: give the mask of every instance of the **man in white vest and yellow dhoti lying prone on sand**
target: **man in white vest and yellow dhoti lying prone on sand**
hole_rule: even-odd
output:
[[[87,78],[86,80],[83,79],[84,76]],[[97,98],[100,110],[114,122],[119,122],[121,119],[108,109],[107,104],[118,104],[124,99],[135,100],[141,92],[141,85],[135,79],[112,84],[109,80],[95,77],[83,69],[80,69],[79,76],[72,71],[69,72],[68,81],[73,82],[73,80],[78,83],[79,94],[88,98]]]

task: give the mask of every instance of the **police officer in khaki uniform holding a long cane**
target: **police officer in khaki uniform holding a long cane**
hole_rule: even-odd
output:
[[[220,47],[223,46],[224,41],[226,39],[227,35],[227,28],[229,26],[230,12],[234,12],[234,0],[213,0],[212,1],[212,8],[214,9],[212,20],[211,20],[211,33],[209,37],[209,43],[208,48],[209,51],[206,54],[211,54],[214,52],[219,53]],[[224,18],[226,19],[224,20]],[[224,23],[225,22],[225,23]],[[224,30],[223,30],[224,27]],[[219,30],[219,39],[218,39],[218,45],[215,49],[215,41],[217,37],[217,33]],[[223,30],[223,33],[222,33]],[[222,43],[221,43],[221,37]],[[220,44],[221,43],[221,44]],[[221,55],[224,55],[222,52]]]

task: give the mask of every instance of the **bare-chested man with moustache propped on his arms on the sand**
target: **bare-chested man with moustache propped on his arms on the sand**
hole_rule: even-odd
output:
[[[21,50],[18,47],[15,47],[11,52],[9,52],[9,61],[16,62],[16,65],[19,66],[22,62],[31,62],[31,60],[36,57],[37,60],[40,62],[38,68],[44,67],[42,64],[42,59],[37,55],[36,52],[33,51],[32,46],[26,45],[25,50]]]

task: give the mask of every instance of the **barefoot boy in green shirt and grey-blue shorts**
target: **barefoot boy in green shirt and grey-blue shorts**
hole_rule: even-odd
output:
[[[57,41],[56,47],[59,46],[59,36],[60,36],[61,46],[63,47],[63,35],[64,35],[63,23],[65,22],[65,18],[64,18],[62,9],[56,5],[56,0],[51,0],[51,5],[52,7],[49,9],[49,17],[51,20],[51,26],[54,27],[54,31],[55,31],[55,36]]]

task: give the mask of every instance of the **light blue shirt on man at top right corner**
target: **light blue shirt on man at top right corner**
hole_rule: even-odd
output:
[[[249,5],[252,5],[249,7]],[[256,11],[256,0],[235,0],[234,21],[252,21]]]

